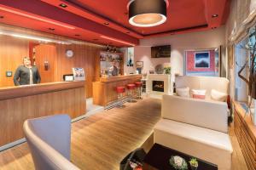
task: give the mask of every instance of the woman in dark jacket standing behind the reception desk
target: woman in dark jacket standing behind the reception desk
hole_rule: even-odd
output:
[[[29,57],[23,58],[23,65],[20,65],[15,71],[15,86],[38,84],[41,77],[37,66],[32,66]]]

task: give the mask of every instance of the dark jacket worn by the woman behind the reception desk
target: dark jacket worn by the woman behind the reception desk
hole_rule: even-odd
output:
[[[15,71],[15,86],[30,84],[30,69],[24,65],[20,65]],[[37,66],[32,66],[32,82],[37,84],[41,82],[41,77]]]

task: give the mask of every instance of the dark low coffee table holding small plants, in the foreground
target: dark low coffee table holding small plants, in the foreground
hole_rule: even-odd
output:
[[[188,163],[189,170],[191,169],[189,161],[193,156],[183,154],[160,144],[154,144],[144,159],[143,170],[175,170],[169,163],[171,156],[183,157]],[[197,170],[218,170],[218,167],[210,162],[201,159],[197,159],[197,161],[199,165]]]

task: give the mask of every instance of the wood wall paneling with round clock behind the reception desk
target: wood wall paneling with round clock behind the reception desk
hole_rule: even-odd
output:
[[[33,32],[33,31],[32,31]],[[44,33],[41,33],[44,37]],[[58,38],[58,36],[55,36]],[[13,71],[22,64],[22,58],[32,55],[32,48],[36,50],[36,65],[40,71],[42,83],[60,82],[64,74],[72,74],[73,67],[83,67],[85,71],[86,84],[84,87],[85,96],[92,97],[92,82],[100,77],[98,59],[102,46],[91,44],[44,44],[33,46],[27,39],[9,36],[0,36],[0,87],[14,86],[13,77],[6,77],[6,71]],[[35,43],[36,44],[36,43]],[[71,59],[66,57],[67,49],[72,49],[74,56]],[[30,56],[32,57],[32,56]],[[49,70],[44,70],[44,61],[49,62]]]

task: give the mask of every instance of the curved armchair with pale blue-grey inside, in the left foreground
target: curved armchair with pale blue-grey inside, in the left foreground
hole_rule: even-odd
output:
[[[45,116],[24,122],[24,133],[37,170],[79,170],[70,162],[71,119]]]

